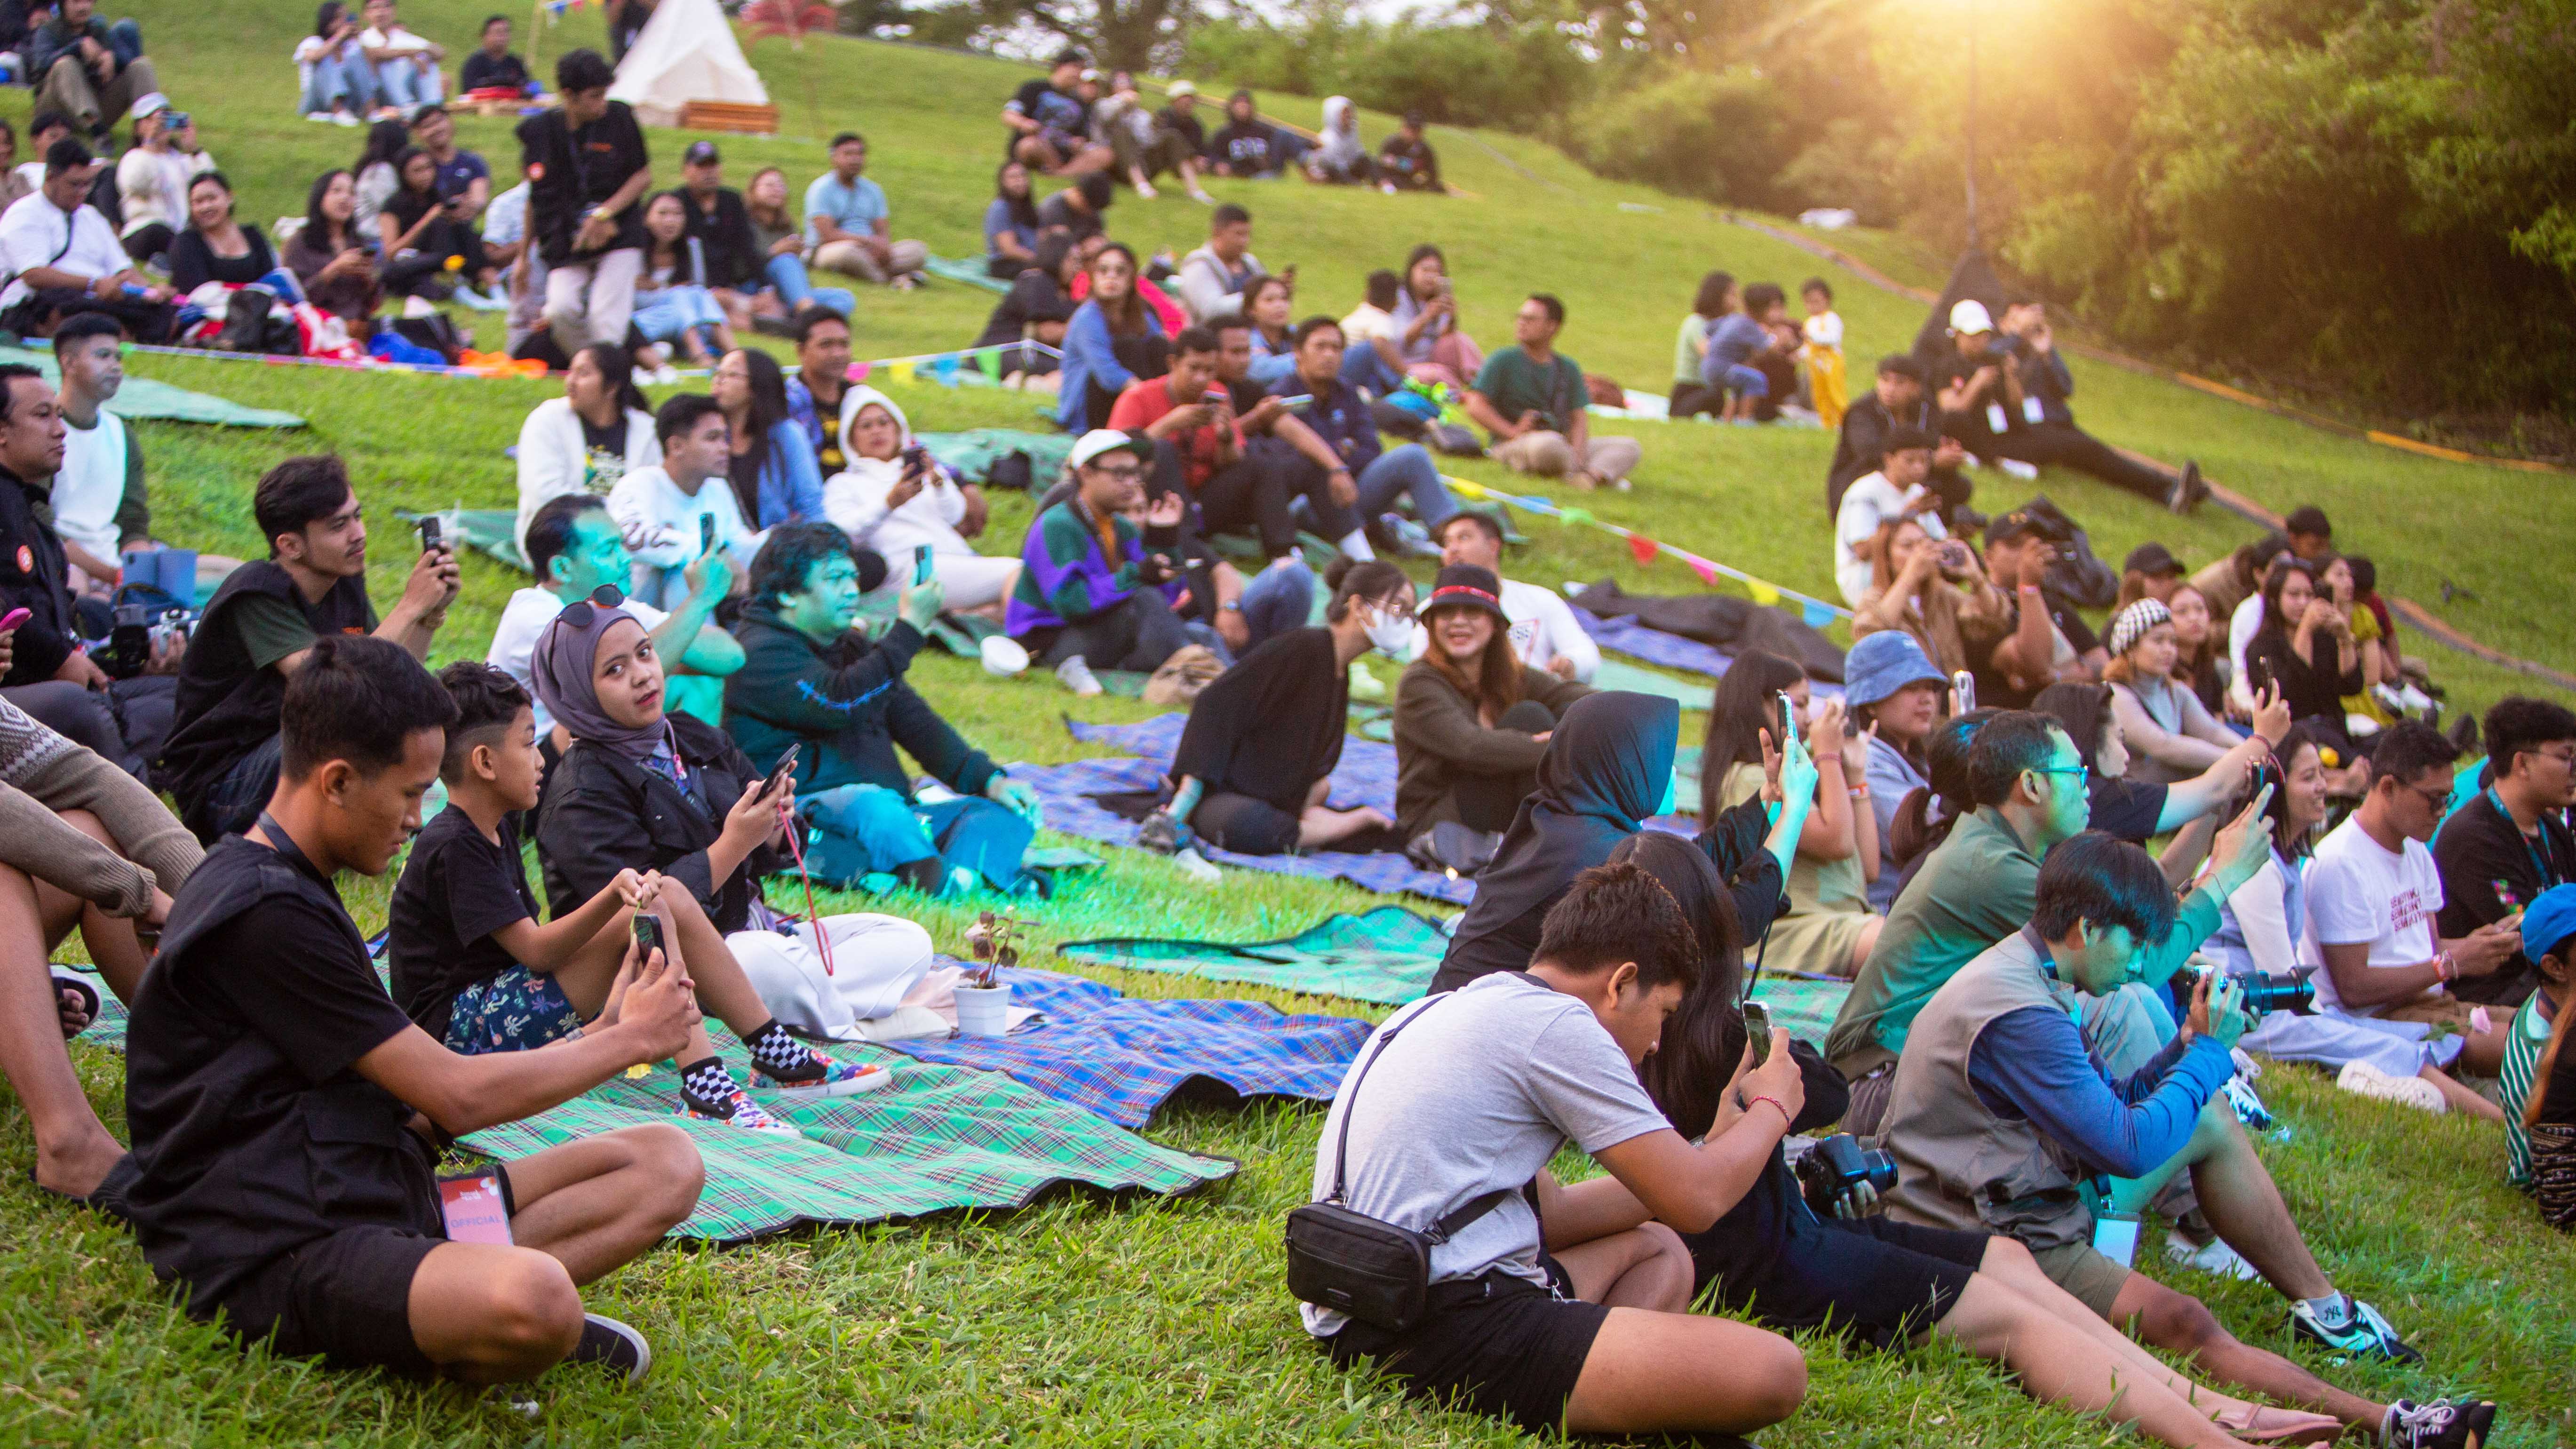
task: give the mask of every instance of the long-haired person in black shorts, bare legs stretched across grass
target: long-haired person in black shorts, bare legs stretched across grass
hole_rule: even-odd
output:
[[[1744,936],[1718,871],[1680,835],[1631,835],[1613,861],[1636,864],[1669,890],[1700,944],[1698,982],[1646,1057],[1646,1093],[1685,1137],[1723,1137],[1747,1116],[1767,1116],[1747,1085],[1770,1060],[1736,1008]],[[1842,1078],[1824,1057],[1785,1031],[1772,1042],[1772,1057],[1795,1047],[1803,1080],[1814,1083],[1798,1127],[1839,1116]],[[1873,1199],[1875,1189],[1860,1183],[1832,1204],[1834,1217],[1821,1217],[1775,1147],[1744,1201],[1682,1238],[1692,1302],[1716,1289],[1726,1312],[1780,1333],[1832,1323],[1855,1346],[1893,1348],[1940,1333],[2012,1369],[2032,1397],[2133,1423],[2164,1444],[2277,1444],[2342,1431],[2318,1413],[2262,1408],[2195,1385],[2048,1281],[2007,1235],[1860,1217]]]

